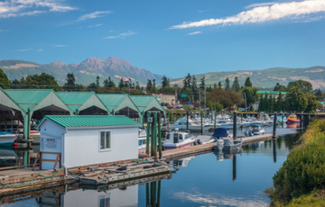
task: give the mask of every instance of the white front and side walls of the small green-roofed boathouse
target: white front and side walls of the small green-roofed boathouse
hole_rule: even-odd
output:
[[[138,158],[138,127],[103,127],[69,129],[45,120],[40,126],[42,152],[60,152],[61,166],[87,166]],[[111,148],[100,149],[100,131],[111,132]],[[53,159],[56,154],[42,154],[42,159]],[[42,169],[53,169],[54,162],[42,161]],[[59,163],[56,166],[59,168]]]

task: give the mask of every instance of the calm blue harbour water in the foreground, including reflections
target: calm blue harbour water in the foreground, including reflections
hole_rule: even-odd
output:
[[[240,135],[241,131],[238,132]],[[180,170],[165,175],[166,179],[161,181],[120,188],[109,185],[115,188],[112,190],[86,190],[78,184],[66,184],[17,195],[15,199],[2,195],[0,203],[2,206],[267,206],[269,201],[262,191],[271,186],[274,173],[283,165],[302,128],[279,126],[277,133],[281,135],[279,139],[245,146],[236,154],[209,153],[173,160],[171,163]]]

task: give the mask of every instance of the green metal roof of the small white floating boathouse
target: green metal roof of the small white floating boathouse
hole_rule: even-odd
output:
[[[61,127],[102,127],[102,126],[130,126],[139,125],[139,122],[134,121],[126,116],[117,115],[46,115],[42,119],[48,119],[59,124]],[[42,121],[37,125],[39,127]]]

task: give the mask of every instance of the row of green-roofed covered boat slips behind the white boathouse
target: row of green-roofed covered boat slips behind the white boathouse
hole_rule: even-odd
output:
[[[9,89],[0,87],[0,130],[23,130],[29,139],[31,121],[45,115],[125,115],[144,123],[147,111],[163,107],[153,95],[95,94],[93,92],[55,92],[51,89]]]

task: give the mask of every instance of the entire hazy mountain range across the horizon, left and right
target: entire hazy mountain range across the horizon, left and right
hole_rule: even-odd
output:
[[[131,78],[133,82],[138,81],[140,85],[146,85],[147,79],[156,79],[156,84],[162,82],[161,75],[153,74],[147,69],[132,66],[127,59],[109,57],[105,58],[87,58],[80,63],[67,64],[65,62],[51,62],[50,64],[40,65],[38,63],[24,60],[2,60],[0,68],[10,80],[21,79],[22,76],[41,74],[42,72],[54,76],[58,83],[64,83],[68,73],[76,76],[77,82],[82,85],[88,85],[95,82],[96,77],[100,77],[100,82],[108,76],[118,84],[120,78],[127,80]],[[184,71],[184,76],[187,72]],[[240,85],[244,85],[246,77],[250,76],[253,85],[259,88],[273,88],[276,83],[287,85],[294,80],[307,80],[311,82],[313,88],[325,88],[325,67],[272,67],[263,70],[238,70],[232,72],[209,72],[196,75],[198,82],[205,76],[206,85],[218,84],[220,81],[224,85],[226,78],[232,84],[235,76],[238,77]],[[171,85],[182,85],[182,79],[171,78]]]

